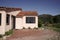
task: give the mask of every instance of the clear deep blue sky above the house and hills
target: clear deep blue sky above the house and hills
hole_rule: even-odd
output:
[[[60,0],[0,0],[0,6],[22,8],[23,11],[37,11],[41,14],[60,14]]]

